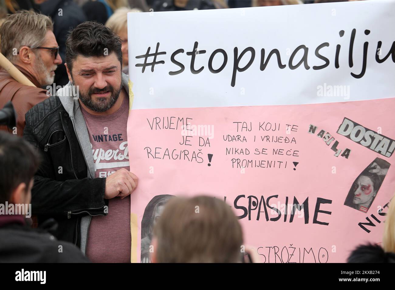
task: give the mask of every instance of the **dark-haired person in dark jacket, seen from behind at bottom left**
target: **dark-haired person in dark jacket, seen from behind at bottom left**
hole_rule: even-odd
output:
[[[33,146],[21,137],[0,131],[0,204],[8,202],[15,208],[0,214],[0,263],[89,262],[71,243],[26,225],[28,213],[26,209],[21,213],[20,208],[30,204],[33,176],[39,164]]]

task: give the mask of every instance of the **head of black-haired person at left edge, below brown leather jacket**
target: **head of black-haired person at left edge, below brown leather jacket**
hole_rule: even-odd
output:
[[[21,137],[0,131],[0,204],[30,204],[40,161]]]

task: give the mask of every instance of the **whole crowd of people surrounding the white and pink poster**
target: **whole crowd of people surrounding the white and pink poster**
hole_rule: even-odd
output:
[[[130,194],[138,177],[128,161],[104,170],[95,162],[127,146],[128,12],[288,4],[302,2],[5,1],[0,51],[34,86],[0,69],[0,109],[11,101],[17,113],[15,127],[0,127],[0,204],[31,204],[34,216],[0,215],[0,262],[130,262]],[[45,88],[53,84],[60,89],[49,94]],[[103,135],[103,128],[116,134]],[[166,200],[145,260],[260,262],[256,249],[243,246],[239,221],[225,202]],[[361,245],[348,261],[395,262],[394,206],[382,246]]]

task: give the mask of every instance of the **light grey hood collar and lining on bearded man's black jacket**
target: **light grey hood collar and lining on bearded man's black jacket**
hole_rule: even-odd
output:
[[[122,86],[126,90],[126,93],[129,95],[128,81],[128,75],[122,73]],[[56,95],[59,97],[64,109],[69,114],[71,122],[73,122],[75,135],[77,135],[77,139],[79,140],[81,145],[82,153],[84,154],[85,160],[87,161],[88,176],[90,176],[90,178],[94,178],[95,164],[93,160],[87,124],[85,123],[85,118],[79,106],[79,95],[77,94],[77,96],[73,97],[73,85],[70,81],[68,82],[68,84],[66,84],[66,86],[57,90]]]

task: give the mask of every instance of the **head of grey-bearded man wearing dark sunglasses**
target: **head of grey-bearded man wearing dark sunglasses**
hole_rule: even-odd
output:
[[[0,50],[41,87],[53,83],[55,70],[62,64],[51,19],[33,11],[21,10],[6,17],[0,26]]]

